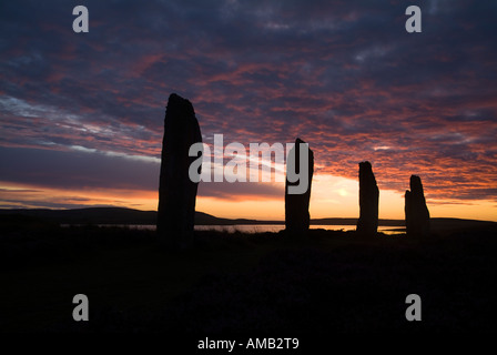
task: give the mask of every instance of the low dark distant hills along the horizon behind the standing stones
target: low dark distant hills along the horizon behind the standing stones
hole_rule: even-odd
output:
[[[89,207],[74,210],[13,209],[0,210],[1,219],[9,215],[26,215],[43,219],[60,224],[155,224],[156,211],[140,211],[124,207]],[[247,219],[220,219],[203,212],[195,212],[196,225],[233,225],[233,224],[284,224],[284,221],[258,221]],[[357,219],[313,219],[312,225],[355,225]],[[404,227],[404,220],[379,220],[382,226]],[[495,226],[496,222],[432,219],[433,230],[473,229]]]

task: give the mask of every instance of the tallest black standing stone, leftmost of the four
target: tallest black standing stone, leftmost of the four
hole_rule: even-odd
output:
[[[158,235],[173,248],[187,247],[193,242],[199,183],[190,180],[189,168],[197,156],[189,156],[189,150],[197,142],[202,142],[202,135],[192,103],[171,94],[162,141]]]

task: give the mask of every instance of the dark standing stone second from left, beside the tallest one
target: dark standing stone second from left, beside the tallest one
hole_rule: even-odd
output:
[[[311,149],[307,150],[308,162],[308,184],[307,190],[302,194],[290,194],[288,187],[298,185],[300,181],[288,181],[288,162],[294,159],[295,172],[301,171],[301,143],[306,144],[300,138],[295,140],[295,145],[288,152],[288,160],[286,162],[286,182],[285,182],[285,227],[291,235],[302,235],[308,231],[311,217],[308,213],[308,204],[311,199],[311,184],[314,173],[314,153]]]

